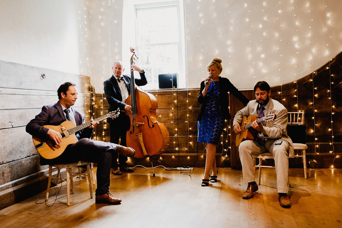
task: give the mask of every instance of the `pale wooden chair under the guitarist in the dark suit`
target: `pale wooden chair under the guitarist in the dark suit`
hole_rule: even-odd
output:
[[[81,168],[79,166],[86,165],[87,166],[87,171],[81,172]],[[70,205],[70,189],[71,193],[74,193],[74,182],[73,182],[73,177],[79,176],[80,180],[81,175],[86,175],[88,176],[88,182],[89,182],[89,191],[90,191],[90,198],[93,198],[93,189],[91,185],[91,174],[90,174],[90,168],[89,168],[90,163],[89,162],[83,162],[80,161],[78,163],[71,163],[71,164],[55,164],[55,165],[49,165],[49,179],[48,179],[48,189],[46,192],[46,200],[49,199],[49,190],[51,187],[51,179],[57,179],[57,180],[65,180],[62,179],[61,177],[58,178],[58,175],[61,176],[61,169],[66,169],[66,194],[67,194],[67,205]],[[52,169],[55,169],[53,167],[56,167],[58,169],[57,175],[54,177],[52,176]],[[78,167],[79,172],[73,172],[73,168]]]

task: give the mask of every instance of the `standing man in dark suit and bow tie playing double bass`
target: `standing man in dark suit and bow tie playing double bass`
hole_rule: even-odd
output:
[[[132,112],[132,107],[127,105],[126,99],[131,93],[131,76],[123,75],[124,72],[123,64],[121,61],[116,61],[113,64],[113,75],[103,82],[104,92],[109,103],[108,111],[114,111],[120,108],[121,111]],[[131,65],[131,71],[138,71],[140,79],[135,78],[134,82],[138,86],[146,85],[147,80],[145,77],[145,71],[136,65]],[[126,132],[130,129],[130,119],[125,112],[120,112],[119,117],[116,119],[108,118],[107,122],[110,126],[110,142],[119,143],[120,145],[126,146]],[[118,154],[113,155],[111,172],[114,175],[121,175],[120,171],[133,172],[132,169],[127,167],[127,157],[119,155],[119,165],[117,162]],[[118,169],[120,167],[120,170]]]

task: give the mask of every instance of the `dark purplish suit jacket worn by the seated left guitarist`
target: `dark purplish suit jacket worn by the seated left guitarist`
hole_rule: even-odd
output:
[[[85,116],[82,112],[79,112],[73,108],[71,110],[74,113],[76,125],[80,125],[85,123]],[[49,136],[48,131],[49,128],[43,127],[43,125],[59,125],[62,122],[66,121],[65,114],[63,112],[63,108],[61,103],[58,101],[56,104],[53,105],[44,105],[42,107],[41,112],[32,119],[26,125],[26,132],[30,135],[36,136],[41,139],[48,139]],[[76,136],[78,139],[81,138],[90,138],[93,134],[93,129],[85,128],[81,131],[76,132]],[[61,155],[62,156],[62,155]],[[56,160],[55,159],[44,159],[40,157],[40,164],[53,164]]]

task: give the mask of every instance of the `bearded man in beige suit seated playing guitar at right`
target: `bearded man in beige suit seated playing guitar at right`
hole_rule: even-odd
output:
[[[286,108],[270,98],[271,88],[265,81],[260,81],[254,86],[255,100],[251,100],[248,105],[238,111],[234,117],[233,130],[236,134],[241,132],[240,123],[242,116],[257,116],[259,118],[270,114],[276,114],[273,122],[257,123],[254,121],[252,127],[257,130],[255,140],[245,140],[239,145],[240,160],[242,164],[242,174],[244,182],[248,187],[243,199],[253,197],[253,192],[257,191],[258,184],[254,182],[254,162],[252,155],[269,152],[273,155],[277,174],[277,190],[279,202],[282,207],[290,207],[291,202],[287,196],[289,190],[288,171],[289,158],[294,157],[293,143],[287,135],[287,110]],[[262,112],[262,113],[261,113]]]

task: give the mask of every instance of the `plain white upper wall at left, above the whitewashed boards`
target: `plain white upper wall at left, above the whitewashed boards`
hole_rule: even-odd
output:
[[[0,60],[84,73],[82,2],[0,0]]]

